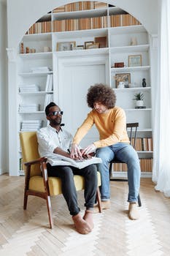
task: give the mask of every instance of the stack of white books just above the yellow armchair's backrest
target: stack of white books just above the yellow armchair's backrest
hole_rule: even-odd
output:
[[[21,132],[37,131],[42,127],[42,121],[40,120],[25,120],[21,122]]]

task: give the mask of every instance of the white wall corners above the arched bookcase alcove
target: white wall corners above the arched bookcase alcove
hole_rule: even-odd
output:
[[[80,0],[74,0],[80,1]],[[36,20],[55,7],[68,4],[72,0],[7,0],[8,13],[8,47],[16,48],[23,34]],[[117,5],[134,15],[150,34],[157,34],[158,2],[157,0],[110,0],[104,1]],[[43,4],[42,4],[43,3]],[[18,26],[20,24],[20,26]]]

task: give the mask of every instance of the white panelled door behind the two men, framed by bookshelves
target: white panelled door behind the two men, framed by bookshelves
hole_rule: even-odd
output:
[[[79,63],[66,62],[63,61],[58,74],[58,103],[63,110],[64,128],[74,135],[91,110],[86,102],[88,89],[95,83],[106,83],[106,64],[83,63],[83,59]],[[93,127],[80,144],[84,147],[95,140],[98,140],[98,132]]]

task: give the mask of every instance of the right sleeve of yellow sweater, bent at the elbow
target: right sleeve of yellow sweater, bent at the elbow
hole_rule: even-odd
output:
[[[114,127],[113,127],[112,134],[109,135],[104,140],[98,140],[94,142],[94,145],[96,146],[96,148],[111,146],[121,141],[129,143],[128,135],[126,133],[126,118],[125,118],[124,110],[121,108],[118,108],[114,115],[115,115],[113,116]],[[111,124],[108,123],[108,125],[111,125]]]

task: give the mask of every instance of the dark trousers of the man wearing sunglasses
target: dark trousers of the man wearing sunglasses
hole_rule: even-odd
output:
[[[85,207],[93,208],[96,200],[97,189],[97,167],[89,165],[82,169],[72,166],[51,166],[47,164],[48,176],[61,178],[61,189],[63,197],[66,200],[69,212],[72,216],[80,212],[77,204],[77,191],[74,184],[74,175],[80,175],[85,178]]]

